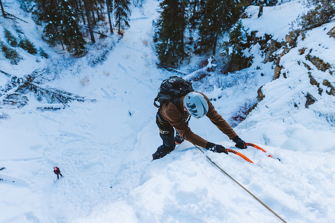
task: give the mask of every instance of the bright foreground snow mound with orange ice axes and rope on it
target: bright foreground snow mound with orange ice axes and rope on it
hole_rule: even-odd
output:
[[[232,147],[232,143],[220,142]],[[216,164],[287,222],[331,222],[334,153],[293,152],[264,147],[241,151],[259,165],[234,155],[208,152]],[[313,159],[311,159],[313,157]],[[320,182],[322,179],[322,182]],[[96,208],[76,222],[280,222],[191,144],[143,170],[139,186],[125,200]]]

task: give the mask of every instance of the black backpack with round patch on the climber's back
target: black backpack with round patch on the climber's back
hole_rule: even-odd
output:
[[[190,93],[191,91],[193,91],[193,87],[190,81],[177,76],[169,77],[163,80],[158,88],[158,94],[153,104],[157,108],[160,108],[165,102],[172,101],[181,112],[182,116],[184,116],[184,111],[180,106],[180,97]],[[159,105],[156,101],[158,101]]]

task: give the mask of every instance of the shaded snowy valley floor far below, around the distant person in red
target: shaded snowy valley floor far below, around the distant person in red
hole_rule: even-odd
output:
[[[157,2],[151,2],[146,9],[133,10],[132,29],[103,65],[90,67],[87,57],[68,60],[70,65],[60,60],[60,66],[69,69],[45,83],[94,98],[95,103],[72,102],[65,109],[44,111],[36,109],[40,102],[30,94],[21,109],[3,106],[1,114],[8,117],[0,120],[4,222],[70,222],[98,204],[125,197],[138,185],[156,147],[148,142],[160,143],[150,95],[169,75],[157,70],[146,44],[157,8]],[[17,75],[34,70],[21,62],[10,65],[3,59],[1,67]],[[56,184],[54,166],[65,175]]]

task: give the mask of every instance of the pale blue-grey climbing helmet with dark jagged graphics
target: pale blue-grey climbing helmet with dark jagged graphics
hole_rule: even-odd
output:
[[[195,91],[192,91],[185,96],[184,106],[186,107],[187,112],[197,119],[204,117],[208,111],[206,98],[204,95]]]

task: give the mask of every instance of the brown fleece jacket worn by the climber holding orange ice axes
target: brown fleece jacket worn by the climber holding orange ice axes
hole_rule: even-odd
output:
[[[226,134],[229,139],[236,137],[236,132],[229,126],[229,124],[222,118],[222,116],[217,113],[217,111],[214,109],[213,104],[209,101],[208,97],[203,93],[201,94],[204,95],[208,103],[208,112],[206,116],[212,121],[214,125],[217,126],[217,128],[222,133]],[[182,108],[184,108],[184,98],[185,96],[180,98],[180,106]],[[190,116],[187,111],[185,111],[185,119],[183,120],[182,115],[180,114],[180,111],[178,110],[176,105],[174,105],[170,101],[163,104],[163,106],[160,108],[160,114],[162,118],[168,121],[185,140],[195,145],[206,148],[208,141],[194,134],[188,124],[185,122],[185,120]]]

